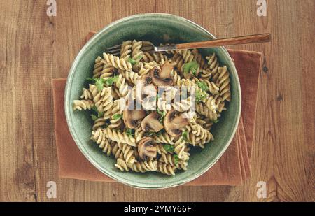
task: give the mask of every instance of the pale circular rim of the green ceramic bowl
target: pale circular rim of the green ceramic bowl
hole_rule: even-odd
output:
[[[114,27],[116,24],[120,23],[120,22],[125,22],[127,20],[132,20],[134,18],[137,17],[170,17],[170,18],[175,18],[176,20],[181,20],[181,22],[186,22],[188,24],[192,24],[194,27],[200,29],[201,31],[204,31],[205,34],[208,34],[209,36],[211,36],[212,38],[216,38],[214,35],[212,35],[209,31],[207,31],[207,29],[204,29],[204,27],[201,27],[199,24],[188,20],[184,17],[178,16],[178,15],[172,15],[169,13],[139,13],[136,15],[130,15],[127,17],[123,17],[119,20],[116,20],[114,22],[111,22],[110,24],[106,25],[106,27],[104,27],[103,29],[101,29],[100,31],[98,31],[96,34],[94,34],[94,36],[92,36],[92,38],[90,38],[89,41],[87,41],[87,43],[85,43],[85,45],[83,45],[83,48],[80,49],[80,52],[78,52],[78,55],[76,56],[76,58],[74,59],[71,68],[69,70],[69,74],[66,80],[66,87],[65,87],[65,92],[64,92],[64,111],[66,114],[66,123],[68,124],[69,127],[69,131],[70,134],[73,138],[73,141],[76,143],[78,149],[80,150],[80,152],[82,152],[82,154],[86,157],[86,159],[88,161],[90,161],[90,163],[97,168],[99,171],[101,171],[102,173],[104,173],[105,175],[109,176],[110,178],[112,178],[113,180],[116,180],[118,182],[121,182],[125,185],[129,185],[131,187],[135,187],[135,188],[141,188],[141,189],[165,189],[165,188],[170,188],[170,187],[176,187],[179,185],[183,185],[186,184],[187,182],[190,182],[192,180],[195,180],[196,178],[200,177],[200,175],[206,173],[207,171],[209,171],[209,169],[214,166],[214,164],[216,164],[216,162],[218,161],[218,159],[220,159],[222,157],[222,155],[224,154],[224,152],[228,149],[228,147],[230,146],[230,143],[232,142],[232,139],[235,136],[235,133],[237,131],[237,126],[239,124],[239,120],[241,117],[241,85],[239,82],[239,76],[237,74],[237,69],[235,68],[235,64],[232,60],[232,57],[230,57],[230,54],[228,53],[228,51],[225,49],[225,47],[220,47],[221,50],[223,50],[223,52],[225,52],[226,57],[228,57],[229,62],[231,62],[232,64],[230,65],[230,67],[232,67],[232,69],[235,71],[235,80],[236,80],[236,85],[237,85],[237,89],[239,89],[239,112],[237,113],[237,120],[235,122],[234,128],[232,130],[232,134],[230,136],[230,139],[228,140],[228,142],[225,144],[225,146],[223,147],[223,150],[221,150],[220,154],[216,155],[216,158],[211,161],[211,163],[209,163],[207,166],[205,166],[204,168],[201,168],[199,172],[197,172],[197,174],[195,175],[191,175],[188,178],[185,178],[183,180],[180,180],[179,182],[173,183],[173,184],[167,184],[165,183],[164,185],[161,186],[155,186],[152,183],[148,183],[146,185],[144,185],[144,183],[137,183],[137,182],[129,182],[126,181],[126,178],[121,178],[118,175],[115,175],[109,171],[106,171],[105,169],[103,169],[102,167],[100,167],[97,164],[97,161],[94,161],[94,159],[90,156],[89,151],[87,151],[83,146],[83,142],[81,142],[74,130],[74,126],[73,124],[71,124],[71,114],[70,114],[70,110],[72,108],[72,106],[69,106],[69,96],[70,96],[70,92],[71,92],[71,82],[72,82],[72,78],[74,75],[74,71],[76,71],[76,68],[78,66],[78,61],[80,59],[80,57],[83,55],[83,53],[85,52],[85,50],[90,46],[90,44],[94,41],[95,38],[98,38],[99,36],[101,36],[103,34],[104,31],[107,31],[108,29],[111,29],[112,27]],[[80,142],[80,144],[78,143]],[[82,146],[81,146],[82,145]]]

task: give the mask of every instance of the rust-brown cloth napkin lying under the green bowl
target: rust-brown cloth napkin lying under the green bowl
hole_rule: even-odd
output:
[[[89,32],[87,40],[93,34],[94,32]],[[241,185],[251,175],[249,159],[253,143],[258,75],[262,55],[260,52],[243,50],[228,50],[228,52],[235,61],[241,82],[242,106],[239,127],[228,150],[218,162],[209,171],[186,185]],[[64,114],[65,85],[66,78],[52,80],[59,177],[115,182],[90,164],[74,143]]]

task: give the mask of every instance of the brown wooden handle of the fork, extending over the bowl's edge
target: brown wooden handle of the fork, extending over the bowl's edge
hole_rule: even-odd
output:
[[[193,48],[213,48],[222,45],[239,45],[248,43],[265,43],[271,40],[271,34],[255,34],[250,36],[240,36],[235,38],[215,39],[211,41],[200,41],[191,43],[176,44],[177,50]]]

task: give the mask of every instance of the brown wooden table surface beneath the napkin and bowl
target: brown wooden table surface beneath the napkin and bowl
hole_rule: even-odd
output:
[[[315,1],[0,1],[0,201],[314,201]],[[172,13],[218,38],[272,33],[272,43],[232,48],[264,54],[252,176],[242,186],[134,189],[58,178],[53,78],[66,77],[89,30],[137,13]],[[46,184],[57,182],[57,198]],[[258,199],[258,181],[267,198]]]

